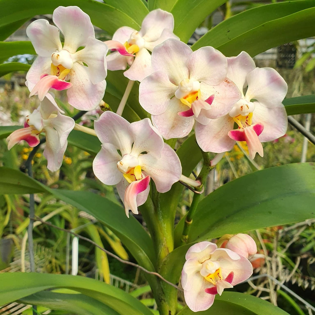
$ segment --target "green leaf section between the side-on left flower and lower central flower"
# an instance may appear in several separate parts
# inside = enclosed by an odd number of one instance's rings
[[[100,140],[97,137],[78,130],[72,130],[70,132],[68,143],[89,152],[92,155],[96,155],[100,151],[101,145]]]

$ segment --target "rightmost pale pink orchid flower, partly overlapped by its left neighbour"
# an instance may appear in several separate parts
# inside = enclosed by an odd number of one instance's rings
[[[205,152],[230,151],[235,141],[246,141],[249,156],[263,156],[261,142],[275,140],[287,130],[288,118],[282,104],[288,86],[272,68],[256,68],[246,52],[227,58],[227,77],[238,87],[241,99],[224,117],[207,125],[196,123],[198,145]],[[244,89],[246,89],[244,92]],[[238,129],[233,130],[234,123]],[[208,136],[208,138],[206,138]]]

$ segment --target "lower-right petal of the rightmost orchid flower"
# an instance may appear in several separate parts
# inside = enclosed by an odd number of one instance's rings
[[[282,137],[288,128],[288,116],[285,107],[281,104],[278,107],[266,108],[258,102],[254,102],[254,104],[253,124],[261,123],[264,126],[259,140],[267,142]]]

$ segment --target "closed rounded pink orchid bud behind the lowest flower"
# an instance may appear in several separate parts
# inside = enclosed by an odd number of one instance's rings
[[[225,248],[248,259],[257,253],[255,241],[248,234],[243,233],[233,235],[226,243]]]

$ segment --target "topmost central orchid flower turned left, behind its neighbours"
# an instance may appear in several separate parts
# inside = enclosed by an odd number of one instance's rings
[[[117,50],[106,57],[108,70],[125,70],[129,65],[124,76],[141,82],[152,73],[149,51],[168,38],[179,39],[173,30],[173,15],[161,9],[144,18],[140,31],[127,26],[119,28],[112,40],[105,42],[109,49]]]

